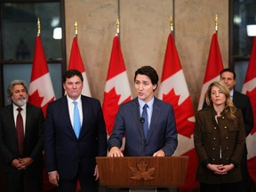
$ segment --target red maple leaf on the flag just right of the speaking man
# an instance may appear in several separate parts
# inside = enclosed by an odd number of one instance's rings
[[[179,106],[179,99],[180,96],[176,95],[173,89],[167,94],[163,95],[163,100],[171,103],[173,106],[177,131],[180,134],[190,138],[190,136],[194,133],[195,127],[195,122],[191,122],[188,120],[189,118],[194,116],[192,102],[190,97],[188,97]]]

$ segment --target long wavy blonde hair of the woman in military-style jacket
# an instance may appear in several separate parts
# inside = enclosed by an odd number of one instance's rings
[[[213,108],[213,103],[211,100],[212,86],[218,87],[226,95],[224,112],[227,114],[228,118],[235,121],[236,120],[236,115],[235,115],[236,107],[230,98],[230,92],[228,90],[228,87],[226,86],[226,84],[222,83],[221,81],[215,81],[209,85],[207,92],[206,92],[207,105],[211,106]]]

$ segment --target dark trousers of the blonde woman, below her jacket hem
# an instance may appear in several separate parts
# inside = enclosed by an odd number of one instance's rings
[[[206,184],[200,183],[200,192],[241,192],[240,182],[221,183],[221,184]]]

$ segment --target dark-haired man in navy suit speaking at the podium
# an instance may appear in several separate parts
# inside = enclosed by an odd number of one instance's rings
[[[139,68],[134,83],[137,98],[119,107],[108,139],[108,156],[172,156],[178,145],[175,117],[171,104],[154,97],[156,70],[149,66]],[[144,106],[148,116],[143,115]],[[124,135],[123,154],[120,148]]]

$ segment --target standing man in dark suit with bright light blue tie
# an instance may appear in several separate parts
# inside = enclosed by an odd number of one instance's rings
[[[95,157],[107,156],[107,132],[100,101],[81,95],[83,81],[79,71],[68,70],[62,80],[67,95],[50,103],[46,113],[45,166],[50,182],[59,186],[61,192],[75,192],[77,180],[82,192],[98,191]]]

